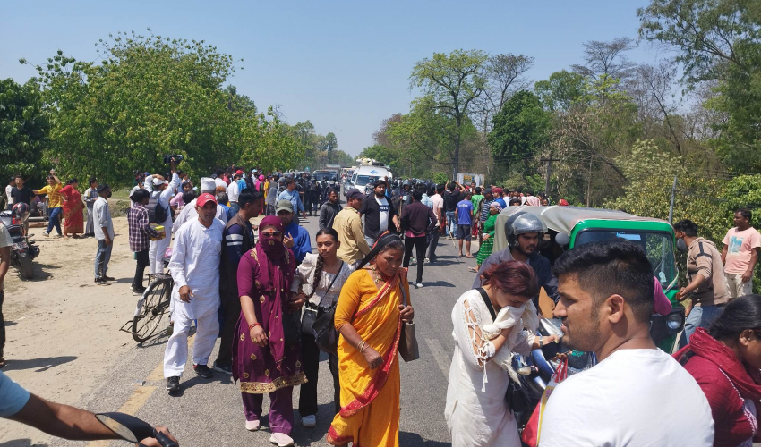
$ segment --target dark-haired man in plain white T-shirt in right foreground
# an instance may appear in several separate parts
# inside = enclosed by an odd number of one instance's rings
[[[650,338],[653,266],[628,240],[570,249],[554,266],[563,342],[598,364],[558,384],[540,447],[714,445],[711,407],[695,379]]]

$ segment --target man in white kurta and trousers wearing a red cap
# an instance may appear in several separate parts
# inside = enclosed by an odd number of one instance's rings
[[[219,261],[225,225],[214,217],[217,200],[211,194],[201,194],[197,208],[198,218],[184,223],[175,232],[175,249],[169,262],[169,273],[175,280],[172,291],[175,325],[164,352],[164,376],[169,392],[180,389],[193,320],[197,320],[193,370],[203,377],[213,375],[208,363],[219,333]]]

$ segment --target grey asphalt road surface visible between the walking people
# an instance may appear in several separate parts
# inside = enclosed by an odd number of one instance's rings
[[[314,234],[317,218],[307,218],[304,226]],[[425,287],[412,291],[415,307],[415,328],[421,358],[401,363],[401,431],[399,442],[406,447],[444,447],[449,445],[449,433],[443,417],[447,392],[449,361],[453,349],[450,312],[459,295],[469,289],[475,273],[467,266],[475,260],[457,258],[452,242],[440,240],[440,261],[426,266]],[[466,264],[467,262],[467,264]],[[415,266],[411,266],[415,268]],[[114,328],[116,330],[117,328]],[[133,343],[124,333],[124,342]],[[244,428],[244,412],[238,388],[229,375],[217,374],[203,379],[192,372],[188,359],[182,378],[183,393],[172,397],[164,390],[161,362],[166,338],[147,346],[135,346],[115,365],[112,374],[97,392],[88,399],[86,407],[93,411],[122,410],[150,421],[167,425],[181,444],[202,445],[269,445],[267,417],[262,418],[262,430],[249,433]],[[218,345],[211,358],[217,358]],[[73,378],[72,378],[73,379]],[[74,379],[73,379],[74,380]],[[320,365],[320,413],[315,428],[304,428],[298,412],[292,434],[296,445],[329,445],[325,441],[332,420],[332,384],[327,358]],[[268,399],[265,399],[267,414]],[[298,402],[298,388],[294,391]],[[92,445],[126,445],[125,443],[91,443]],[[52,445],[81,445],[57,441]]]

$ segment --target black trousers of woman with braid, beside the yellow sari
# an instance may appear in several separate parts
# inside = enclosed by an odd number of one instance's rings
[[[317,378],[320,375],[320,349],[312,335],[301,336],[301,361],[304,363],[306,384],[299,390],[299,414],[301,417],[317,414]],[[333,404],[336,414],[341,410],[341,385],[338,382],[338,356],[328,355],[330,374],[333,375]]]

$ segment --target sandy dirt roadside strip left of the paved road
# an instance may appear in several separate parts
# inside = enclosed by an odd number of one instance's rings
[[[30,392],[80,404],[108,374],[108,365],[134,348],[132,336],[118,330],[132,318],[138,299],[130,289],[135,261],[126,217],[115,217],[114,229],[108,275],[116,281],[110,285],[93,283],[98,245],[94,238],[48,239],[42,237],[42,228],[30,229],[40,247],[35,279],[21,281],[13,267],[6,275],[3,372]],[[0,419],[3,446],[45,445],[49,439]]]

